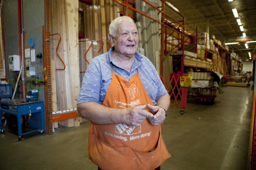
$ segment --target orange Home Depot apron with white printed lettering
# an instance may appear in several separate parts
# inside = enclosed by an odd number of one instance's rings
[[[154,105],[138,73],[126,81],[112,69],[112,80],[103,105],[122,109],[147,103]],[[150,112],[148,108],[146,110]],[[91,122],[88,152],[89,159],[104,170],[150,170],[171,157],[162,139],[161,126],[154,126],[147,119],[139,127]]]

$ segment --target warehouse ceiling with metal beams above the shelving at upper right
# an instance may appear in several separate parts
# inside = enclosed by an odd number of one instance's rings
[[[233,0],[231,2],[228,0],[167,0],[167,2],[185,15],[185,26],[188,29],[194,30],[198,26],[199,32],[207,32],[209,28],[210,37],[215,35],[222,45],[235,42],[236,37],[243,36],[242,33],[250,36],[251,41],[256,41],[255,0]],[[233,8],[237,9],[237,18],[234,17]],[[168,8],[165,12],[173,18],[180,17]],[[237,19],[241,20],[244,31],[240,30]],[[256,50],[254,51],[256,42],[247,43],[247,49],[245,43],[228,45],[229,51],[237,53],[242,60],[249,59],[248,52],[252,55],[256,54]]]

